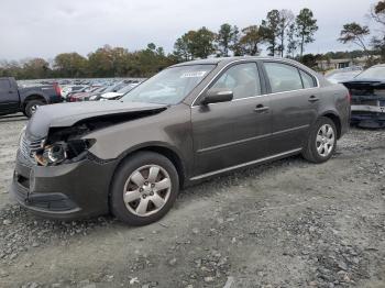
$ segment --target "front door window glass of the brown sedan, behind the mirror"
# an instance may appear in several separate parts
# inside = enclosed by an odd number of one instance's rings
[[[229,68],[211,86],[232,90],[234,99],[261,95],[261,81],[255,63],[238,64]]]

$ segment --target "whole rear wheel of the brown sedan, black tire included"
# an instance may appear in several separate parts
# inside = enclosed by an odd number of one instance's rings
[[[312,163],[323,163],[330,159],[336,147],[337,129],[334,122],[329,118],[321,117],[310,130],[309,139],[304,146],[302,156]]]

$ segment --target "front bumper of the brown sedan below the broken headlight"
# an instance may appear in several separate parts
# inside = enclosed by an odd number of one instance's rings
[[[114,160],[91,159],[53,167],[32,166],[18,153],[11,192],[34,213],[79,219],[109,212],[108,193]]]

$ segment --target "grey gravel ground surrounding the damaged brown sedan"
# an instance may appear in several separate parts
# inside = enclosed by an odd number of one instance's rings
[[[23,118],[0,120],[0,287],[385,287],[385,131],[184,190],[161,222],[55,222],[9,200]]]

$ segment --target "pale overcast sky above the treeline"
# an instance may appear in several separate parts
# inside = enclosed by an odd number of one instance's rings
[[[316,42],[308,53],[352,49],[337,42],[341,26],[370,24],[373,0],[2,0],[0,59],[52,58],[63,52],[87,55],[110,44],[130,51],[154,42],[172,52],[188,30],[217,31],[228,22],[244,27],[260,24],[272,9],[295,14],[310,8],[318,19]]]

